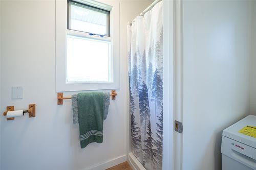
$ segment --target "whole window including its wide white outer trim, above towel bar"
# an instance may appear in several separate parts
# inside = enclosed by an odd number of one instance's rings
[[[56,91],[117,88],[118,3],[56,1]]]

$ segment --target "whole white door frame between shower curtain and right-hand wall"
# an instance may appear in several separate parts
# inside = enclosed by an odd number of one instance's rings
[[[163,0],[163,169],[182,169],[183,122],[182,0]]]

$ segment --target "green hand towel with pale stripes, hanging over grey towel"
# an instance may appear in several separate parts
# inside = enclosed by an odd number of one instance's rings
[[[104,93],[78,93],[78,122],[80,145],[103,141]]]

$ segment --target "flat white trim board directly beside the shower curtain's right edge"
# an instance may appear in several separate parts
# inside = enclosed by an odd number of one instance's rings
[[[174,1],[163,0],[163,169],[174,168]]]

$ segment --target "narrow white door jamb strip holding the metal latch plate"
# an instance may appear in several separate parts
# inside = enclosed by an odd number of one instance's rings
[[[183,27],[182,1],[174,1],[174,119],[183,122]],[[174,131],[174,166],[182,169],[183,133]]]

